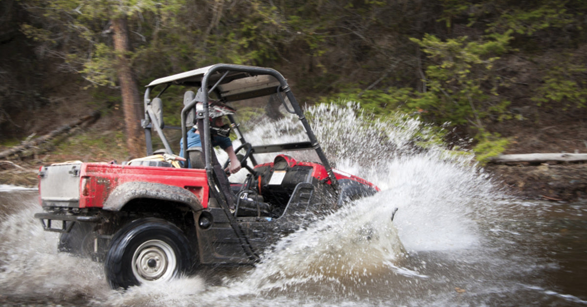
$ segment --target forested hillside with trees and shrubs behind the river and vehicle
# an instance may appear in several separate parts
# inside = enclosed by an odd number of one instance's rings
[[[142,154],[139,125],[131,124],[142,117],[141,87],[214,63],[275,68],[309,104],[353,100],[383,118],[417,114],[444,127],[448,143],[473,140],[481,162],[500,153],[587,152],[583,0],[0,6],[2,148],[102,115],[92,129],[51,143],[43,161]]]

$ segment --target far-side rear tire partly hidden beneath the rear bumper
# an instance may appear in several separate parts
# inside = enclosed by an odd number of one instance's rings
[[[94,225],[74,222],[69,232],[63,232],[59,236],[57,250],[69,252],[79,257],[90,257],[94,249],[94,238],[96,238],[96,233],[93,231]]]

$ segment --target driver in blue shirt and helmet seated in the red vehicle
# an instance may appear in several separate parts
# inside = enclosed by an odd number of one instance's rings
[[[223,116],[227,114],[234,114],[235,109],[227,106],[226,104],[210,100],[210,134],[212,146],[220,146],[227,154],[230,159],[230,165],[226,171],[230,174],[237,173],[241,169],[241,162],[238,160],[237,155],[234,153],[232,148],[232,141],[230,140],[230,126],[224,123]],[[192,127],[187,132],[187,148],[191,147],[202,147],[202,141],[200,139],[200,131],[198,131],[197,125]],[[183,137],[180,140],[180,156],[183,157]]]

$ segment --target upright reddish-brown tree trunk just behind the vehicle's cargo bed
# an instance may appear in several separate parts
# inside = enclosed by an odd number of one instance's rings
[[[131,158],[144,156],[144,134],[140,121],[143,117],[143,103],[139,86],[130,66],[129,28],[126,16],[113,19],[114,51],[117,56],[117,73],[122,93],[126,145]]]

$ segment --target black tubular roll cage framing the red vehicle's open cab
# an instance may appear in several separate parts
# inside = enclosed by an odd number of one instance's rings
[[[262,76],[271,76],[274,77],[275,80],[278,81],[278,84],[269,84],[269,83],[258,83],[254,84],[249,88],[247,86],[243,86],[239,91],[235,91],[235,93],[229,93],[229,95],[223,96],[223,93],[218,90],[219,85],[225,85],[230,83],[234,80],[243,79],[244,83],[248,82],[248,80],[257,80],[260,79]],[[247,79],[248,78],[248,79]],[[252,84],[252,82],[251,82]],[[322,165],[326,168],[330,181],[333,187],[338,187],[338,182],[336,180],[335,174],[330,167],[330,163],[326,158],[324,152],[322,151],[322,147],[318,143],[315,134],[310,127],[308,120],[306,119],[305,115],[301,107],[299,106],[297,100],[295,99],[294,94],[292,93],[288,82],[285,78],[281,75],[281,73],[277,72],[274,69],[270,68],[261,68],[255,66],[243,66],[243,65],[232,65],[232,64],[216,64],[212,66],[208,66],[205,68],[191,70],[189,72],[179,73],[177,75],[167,76],[160,79],[156,79],[151,82],[149,85],[146,86],[146,91],[144,94],[144,110],[145,110],[145,117],[141,120],[141,126],[145,130],[145,137],[147,143],[147,156],[151,156],[153,154],[153,142],[151,139],[152,129],[154,128],[157,131],[161,141],[163,142],[164,147],[168,151],[168,153],[173,153],[171,150],[171,146],[169,145],[167,138],[163,133],[163,128],[158,123],[155,110],[153,110],[153,100],[151,100],[151,92],[153,92],[154,88],[159,85],[164,85],[164,89],[161,92],[157,93],[153,99],[158,98],[165,92],[168,87],[171,85],[184,85],[184,86],[197,86],[200,87],[195,98],[190,102],[185,104],[183,109],[181,110],[181,136],[183,138],[183,143],[186,145],[183,148],[183,156],[188,157],[187,154],[187,115],[190,110],[195,108],[195,104],[198,102],[202,102],[203,109],[197,110],[196,119],[204,119],[202,122],[204,124],[204,157],[205,157],[205,170],[208,175],[208,180],[212,178],[212,146],[211,146],[211,135],[210,135],[210,121],[207,120],[210,118],[209,113],[209,105],[208,105],[208,97],[210,93],[215,92],[218,97],[221,97],[222,100],[226,102],[231,102],[235,100],[242,100],[248,99],[252,97],[259,97],[259,96],[266,96],[271,95],[274,93],[283,93],[289,100],[289,104],[291,104],[292,109],[290,109],[283,99],[282,95],[278,95],[279,99],[281,99],[282,104],[284,104],[285,109],[292,114],[296,114],[298,116],[298,120],[302,123],[303,129],[305,130],[306,134],[308,135],[308,139],[310,141],[299,142],[299,143],[284,143],[284,144],[270,144],[270,145],[263,145],[263,146],[254,146],[252,147],[252,154],[250,156],[251,161],[254,165],[256,165],[256,161],[254,158],[255,153],[272,153],[272,152],[280,152],[280,151],[287,151],[287,150],[315,150],[318,158],[320,159]],[[207,89],[207,90],[204,90]],[[241,141],[241,144],[247,143],[243,134],[238,128],[238,124],[235,122],[233,116],[228,116],[228,120],[230,120],[231,127],[237,134],[238,139]],[[184,167],[189,167],[189,163],[184,163]]]

